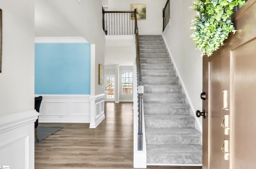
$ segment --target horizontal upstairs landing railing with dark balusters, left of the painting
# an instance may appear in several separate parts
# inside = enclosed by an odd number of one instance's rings
[[[134,35],[134,26],[134,11],[102,9],[102,28],[106,35]]]

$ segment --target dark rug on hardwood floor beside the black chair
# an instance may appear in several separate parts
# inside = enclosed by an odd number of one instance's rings
[[[63,127],[37,127],[37,136],[39,138],[39,141],[36,141],[35,138],[35,144],[58,132],[62,128]]]

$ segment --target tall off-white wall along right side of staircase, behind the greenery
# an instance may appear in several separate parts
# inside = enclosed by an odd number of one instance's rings
[[[195,113],[196,110],[202,110],[202,57],[190,37],[191,21],[196,16],[195,12],[189,10],[192,2],[193,0],[171,0],[170,28],[164,33],[164,39]],[[196,120],[200,121],[202,129],[202,118]]]

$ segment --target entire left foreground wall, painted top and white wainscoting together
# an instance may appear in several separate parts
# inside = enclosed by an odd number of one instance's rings
[[[1,1],[0,165],[34,169],[34,0]]]

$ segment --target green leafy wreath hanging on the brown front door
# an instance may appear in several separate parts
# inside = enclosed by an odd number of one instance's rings
[[[202,56],[212,55],[223,45],[230,32],[236,33],[231,16],[234,7],[243,5],[244,2],[244,0],[196,0],[190,6],[190,10],[197,12],[190,28],[194,31],[191,37],[196,41],[196,48],[202,51]]]

